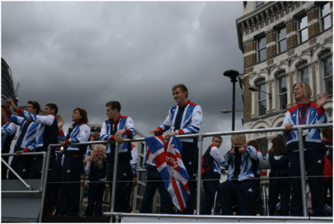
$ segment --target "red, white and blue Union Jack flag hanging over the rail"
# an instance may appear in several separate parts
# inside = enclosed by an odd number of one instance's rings
[[[156,168],[161,174],[168,195],[174,205],[183,211],[190,196],[189,174],[182,161],[182,142],[176,137],[167,141],[162,135],[145,138]]]

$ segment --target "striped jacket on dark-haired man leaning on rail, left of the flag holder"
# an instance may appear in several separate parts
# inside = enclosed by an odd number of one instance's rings
[[[117,123],[117,131],[122,129],[127,129],[129,135],[122,135],[122,138],[129,139],[137,134],[137,130],[134,128],[134,123],[131,117],[120,116],[119,122]],[[115,128],[113,122],[110,120],[105,120],[101,128],[100,140],[101,141],[110,141],[110,137],[113,135],[110,134],[111,128]],[[118,152],[127,152],[128,142],[120,144]],[[107,145],[105,153],[110,153],[110,144]]]

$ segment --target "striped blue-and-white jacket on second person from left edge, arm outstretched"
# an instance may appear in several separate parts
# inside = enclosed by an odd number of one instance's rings
[[[7,113],[7,118],[8,118],[9,121],[12,121],[13,123],[16,123],[16,124],[20,125],[20,128],[18,130],[18,138],[20,138],[22,129],[28,121],[25,120],[25,118],[13,115],[13,113],[11,113],[11,114]],[[30,122],[30,124],[28,125],[28,130],[25,133],[25,136],[23,137],[22,144],[17,145],[17,146],[21,147],[23,149],[25,147],[28,147],[28,149],[30,151],[35,150],[35,148],[37,147],[37,139],[36,138],[37,138],[37,131],[38,131],[39,126],[40,126],[40,124],[38,124],[38,123]]]

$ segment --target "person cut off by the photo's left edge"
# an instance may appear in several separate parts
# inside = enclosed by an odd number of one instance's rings
[[[9,153],[11,150],[11,141],[15,136],[18,127],[8,120],[6,115],[6,106],[1,105],[1,154]],[[7,163],[9,157],[2,157]],[[8,168],[1,162],[1,179],[6,179]]]

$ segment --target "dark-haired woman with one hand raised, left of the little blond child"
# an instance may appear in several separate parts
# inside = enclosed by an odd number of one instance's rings
[[[81,171],[84,169],[83,157],[87,151],[87,145],[72,145],[69,143],[88,142],[91,128],[88,126],[87,112],[83,108],[75,108],[72,113],[73,125],[64,135],[62,126],[64,120],[58,119],[58,135],[64,147],[64,163],[62,167],[62,182],[60,198],[57,206],[57,215],[77,216],[80,204]]]

